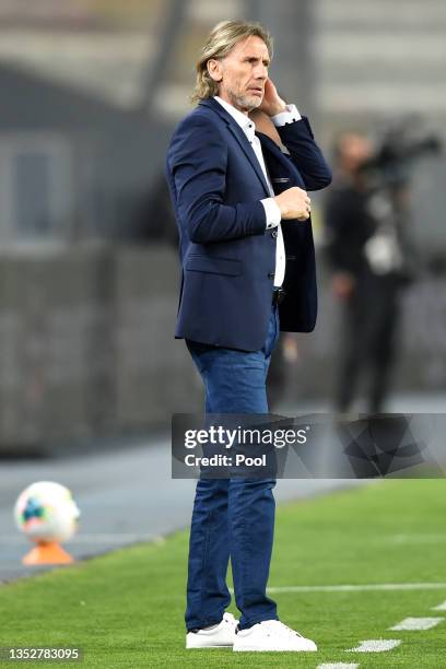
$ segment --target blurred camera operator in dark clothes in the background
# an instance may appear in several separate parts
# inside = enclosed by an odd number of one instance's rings
[[[375,156],[366,136],[342,133],[325,203],[331,290],[343,319],[334,391],[340,413],[351,408],[363,373],[368,377],[366,410],[383,410],[397,352],[401,289],[413,275],[406,232],[408,181],[377,181]]]

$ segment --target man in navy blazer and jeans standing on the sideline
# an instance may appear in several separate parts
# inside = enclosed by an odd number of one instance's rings
[[[199,104],[176,128],[167,179],[180,234],[175,336],[203,379],[207,413],[268,413],[279,327],[310,331],[317,310],[310,200],[330,171],[309,122],[268,78],[271,38],[257,23],[214,27],[197,63]],[[259,108],[289,155],[256,133]],[[280,304],[280,309],[279,309]],[[279,324],[280,312],[280,324]],[[186,646],[316,650],[267,597],[273,479],[200,479],[189,544]],[[239,624],[225,613],[231,558]]]

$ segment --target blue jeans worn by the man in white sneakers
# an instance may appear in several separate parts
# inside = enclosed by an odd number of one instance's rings
[[[272,307],[260,351],[221,349],[188,341],[203,379],[207,413],[268,413],[266,379],[279,337]],[[240,627],[278,619],[266,595],[274,530],[274,479],[200,479],[189,541],[187,630],[220,623],[231,602],[227,565],[234,580]]]

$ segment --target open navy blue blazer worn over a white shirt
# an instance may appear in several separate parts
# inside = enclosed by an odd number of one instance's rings
[[[275,195],[318,190],[331,173],[308,120],[278,128],[283,153],[257,133]],[[244,351],[263,345],[271,313],[277,231],[266,231],[261,199],[270,197],[246,134],[213,98],[177,126],[166,176],[179,227],[181,286],[176,338]],[[308,332],[317,313],[310,221],[282,221],[286,272],[281,330]]]

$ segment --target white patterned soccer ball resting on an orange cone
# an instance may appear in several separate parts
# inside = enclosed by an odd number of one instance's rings
[[[71,491],[51,481],[26,488],[14,507],[17,528],[37,543],[67,541],[78,529],[80,515]]]

